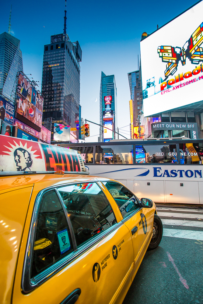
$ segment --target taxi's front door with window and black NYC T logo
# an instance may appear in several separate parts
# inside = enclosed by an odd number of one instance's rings
[[[134,278],[142,258],[147,250],[149,238],[152,233],[153,215],[148,208],[140,208],[138,199],[126,187],[115,181],[104,181],[103,184],[109,190],[116,201],[121,214],[122,222],[128,227],[134,251]]]

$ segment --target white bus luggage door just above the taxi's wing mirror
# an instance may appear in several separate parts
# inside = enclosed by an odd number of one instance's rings
[[[164,182],[152,180],[134,180],[134,193],[140,199],[145,197],[152,199],[154,202],[164,202]]]

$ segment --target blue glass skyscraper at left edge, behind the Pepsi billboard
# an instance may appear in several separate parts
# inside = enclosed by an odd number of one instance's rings
[[[23,71],[20,40],[4,32],[0,35],[0,93],[9,99],[19,71]]]

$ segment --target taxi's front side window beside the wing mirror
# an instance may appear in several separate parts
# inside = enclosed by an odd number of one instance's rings
[[[103,184],[115,199],[123,218],[139,209],[138,198],[123,185],[115,181],[104,181]]]

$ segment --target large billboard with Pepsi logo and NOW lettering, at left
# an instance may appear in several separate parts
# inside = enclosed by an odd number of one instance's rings
[[[41,127],[43,103],[44,99],[40,93],[19,73],[16,112]]]

